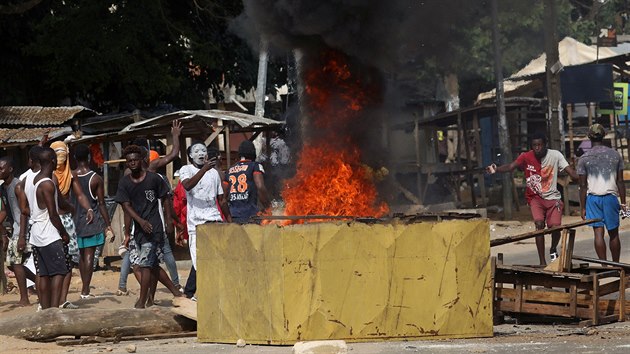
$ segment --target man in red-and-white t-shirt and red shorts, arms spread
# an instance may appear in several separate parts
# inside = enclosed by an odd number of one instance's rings
[[[547,137],[542,134],[535,134],[531,140],[532,149],[522,153],[513,162],[501,166],[492,164],[486,168],[490,174],[496,172],[511,172],[519,168],[525,173],[527,188],[525,199],[532,212],[536,230],[546,227],[554,227],[562,224],[562,211],[564,204],[561,200],[560,192],[557,188],[558,172],[566,171],[573,180],[578,176],[575,170],[558,150],[547,148]],[[551,248],[549,256],[551,260],[558,258],[556,247],[560,241],[560,233],[551,234]],[[541,265],[546,265],[545,260],[545,237],[536,237],[536,248],[538,249],[538,259]]]

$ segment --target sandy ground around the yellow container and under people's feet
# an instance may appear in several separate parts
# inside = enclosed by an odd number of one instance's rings
[[[523,210],[525,209],[525,210]],[[571,223],[580,220],[579,217],[565,217],[563,223]],[[526,208],[521,208],[512,221],[494,220],[490,215],[490,237],[492,239],[509,235],[522,234],[533,231],[534,225]],[[623,220],[621,225],[622,237],[622,261],[630,263],[630,219]],[[592,240],[592,229],[589,227],[577,228],[576,242],[589,245]],[[549,241],[547,241],[548,243]],[[525,240],[509,245],[495,247],[492,255],[503,253],[505,263],[513,263],[510,260],[531,260],[535,264],[537,260],[534,240]],[[178,254],[185,254],[182,250]],[[591,247],[586,247],[582,252],[584,256],[595,257]],[[114,262],[116,266],[118,263]],[[520,263],[523,264],[523,263]],[[189,261],[178,261],[180,280],[186,281]],[[113,270],[101,270],[94,274],[92,281],[92,294],[95,298],[82,300],[79,297],[81,281],[78,272],[70,288],[69,300],[81,308],[132,308],[139,291],[139,285],[130,275],[128,281],[129,296],[116,296],[119,273]],[[9,279],[14,281],[13,279]],[[0,295],[0,320],[15,319],[19,325],[22,315],[36,311],[36,305],[17,307],[19,299],[17,290]],[[156,294],[158,306],[170,306],[171,295],[160,288]],[[31,296],[31,301],[36,298]],[[459,353],[483,353],[506,351],[538,352],[541,350],[555,350],[558,352],[608,352],[624,353],[630,350],[630,324],[616,323],[596,328],[578,328],[571,325],[516,325],[504,324],[495,326],[495,336],[485,339],[467,340],[441,340],[441,341],[401,341],[380,343],[356,343],[349,344],[349,349],[355,353],[402,353],[402,352],[459,352]],[[229,344],[199,343],[195,337],[176,339],[157,339],[144,341],[122,341],[113,344],[111,342],[99,344],[84,344],[74,346],[59,346],[55,342],[38,343],[19,340],[0,335],[0,352],[3,353],[127,353],[127,346],[134,345],[136,352],[164,352],[164,353],[291,353],[291,347],[251,346],[237,348]],[[569,349],[571,348],[571,349]]]

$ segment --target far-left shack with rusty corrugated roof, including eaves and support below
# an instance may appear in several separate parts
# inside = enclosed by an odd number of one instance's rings
[[[83,107],[0,107],[0,147],[15,161],[16,171],[26,169],[28,148],[37,144],[44,134],[49,139],[65,138],[79,131],[83,120],[98,115]]]

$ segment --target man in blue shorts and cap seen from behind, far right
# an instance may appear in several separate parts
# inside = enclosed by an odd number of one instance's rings
[[[591,224],[595,234],[595,252],[606,260],[604,226],[610,237],[612,260],[619,262],[619,210],[626,209],[626,186],[623,182],[623,158],[602,141],[606,131],[601,124],[593,124],[588,130],[592,148],[586,152],[577,166],[580,181],[580,205],[582,219],[602,219]],[[621,204],[619,204],[621,199]]]

